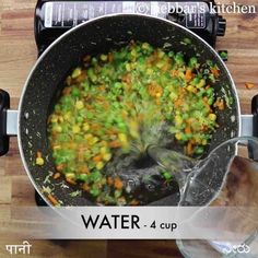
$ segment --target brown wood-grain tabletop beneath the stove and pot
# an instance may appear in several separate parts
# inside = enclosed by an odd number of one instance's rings
[[[37,57],[33,32],[35,3],[36,0],[0,2],[0,87],[10,93],[12,108],[17,107],[25,79]],[[256,0],[242,3],[255,4]],[[258,16],[224,16],[227,32],[219,38],[218,49],[228,50],[227,66],[237,85],[242,112],[248,114],[250,99],[258,93]],[[255,83],[255,87],[246,90],[246,82]],[[11,140],[9,154],[0,159],[0,221],[10,220],[4,210],[13,206],[35,206],[34,188],[21,163],[16,139]],[[0,257],[9,257],[5,244],[13,243],[15,239],[0,241]],[[32,257],[181,257],[172,241],[34,241],[32,244]]]

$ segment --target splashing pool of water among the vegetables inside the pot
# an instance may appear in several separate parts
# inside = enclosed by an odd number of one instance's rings
[[[141,124],[128,122],[131,124],[130,134],[133,136],[133,140],[130,141],[130,151],[114,156],[113,161],[106,165],[106,173],[112,177],[119,177],[127,195],[139,200],[141,204],[174,196],[171,202],[176,206],[179,201],[176,178],[148,151],[150,146],[157,144],[166,150],[173,145],[173,136],[166,122],[159,124],[156,117],[150,114],[145,114],[144,118],[144,122]]]

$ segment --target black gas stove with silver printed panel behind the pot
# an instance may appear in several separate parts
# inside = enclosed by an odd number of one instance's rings
[[[35,10],[35,40],[38,56],[70,28],[106,14],[140,13],[176,22],[198,34],[212,47],[224,36],[226,21],[213,10],[213,0],[189,1],[56,1],[38,0]],[[225,52],[225,50],[223,50]],[[36,203],[46,206],[35,194]]]

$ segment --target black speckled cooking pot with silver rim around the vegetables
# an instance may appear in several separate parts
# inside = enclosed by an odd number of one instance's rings
[[[190,39],[191,44],[185,44],[185,38]],[[82,57],[120,48],[132,39],[148,42],[167,51],[183,51],[187,58],[197,56],[200,62],[213,60],[221,71],[220,81],[214,86],[215,95],[224,98],[226,94],[227,98],[233,99],[233,104],[224,110],[218,110],[220,127],[212,137],[207,154],[223,141],[241,134],[241,112],[235,84],[222,59],[204,40],[176,23],[148,15],[115,14],[91,20],[58,38],[37,60],[24,86],[19,112],[9,110],[10,99],[5,92],[1,91],[0,95],[1,154],[8,152],[9,136],[16,133],[27,175],[48,204],[51,203],[43,194],[46,188],[50,188],[63,206],[92,204],[84,196],[71,197],[69,194],[74,188],[62,179],[48,176],[49,172],[50,175],[55,172],[55,165],[47,138],[47,118],[57,93]],[[253,116],[244,117],[244,134],[251,133],[251,118]],[[46,157],[42,167],[35,166],[37,151]],[[178,198],[171,200],[173,201],[167,202],[166,199],[165,203],[177,204]],[[164,201],[160,202],[162,203]]]

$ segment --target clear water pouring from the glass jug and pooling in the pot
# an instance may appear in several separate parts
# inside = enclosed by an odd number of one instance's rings
[[[228,140],[206,159],[191,159],[176,145],[169,126],[149,113],[142,122],[128,121],[133,136],[130,151],[116,155],[106,165],[107,174],[121,178],[127,195],[141,204],[161,204],[159,200],[165,199],[163,204],[208,206],[225,183],[237,142],[248,139]]]

